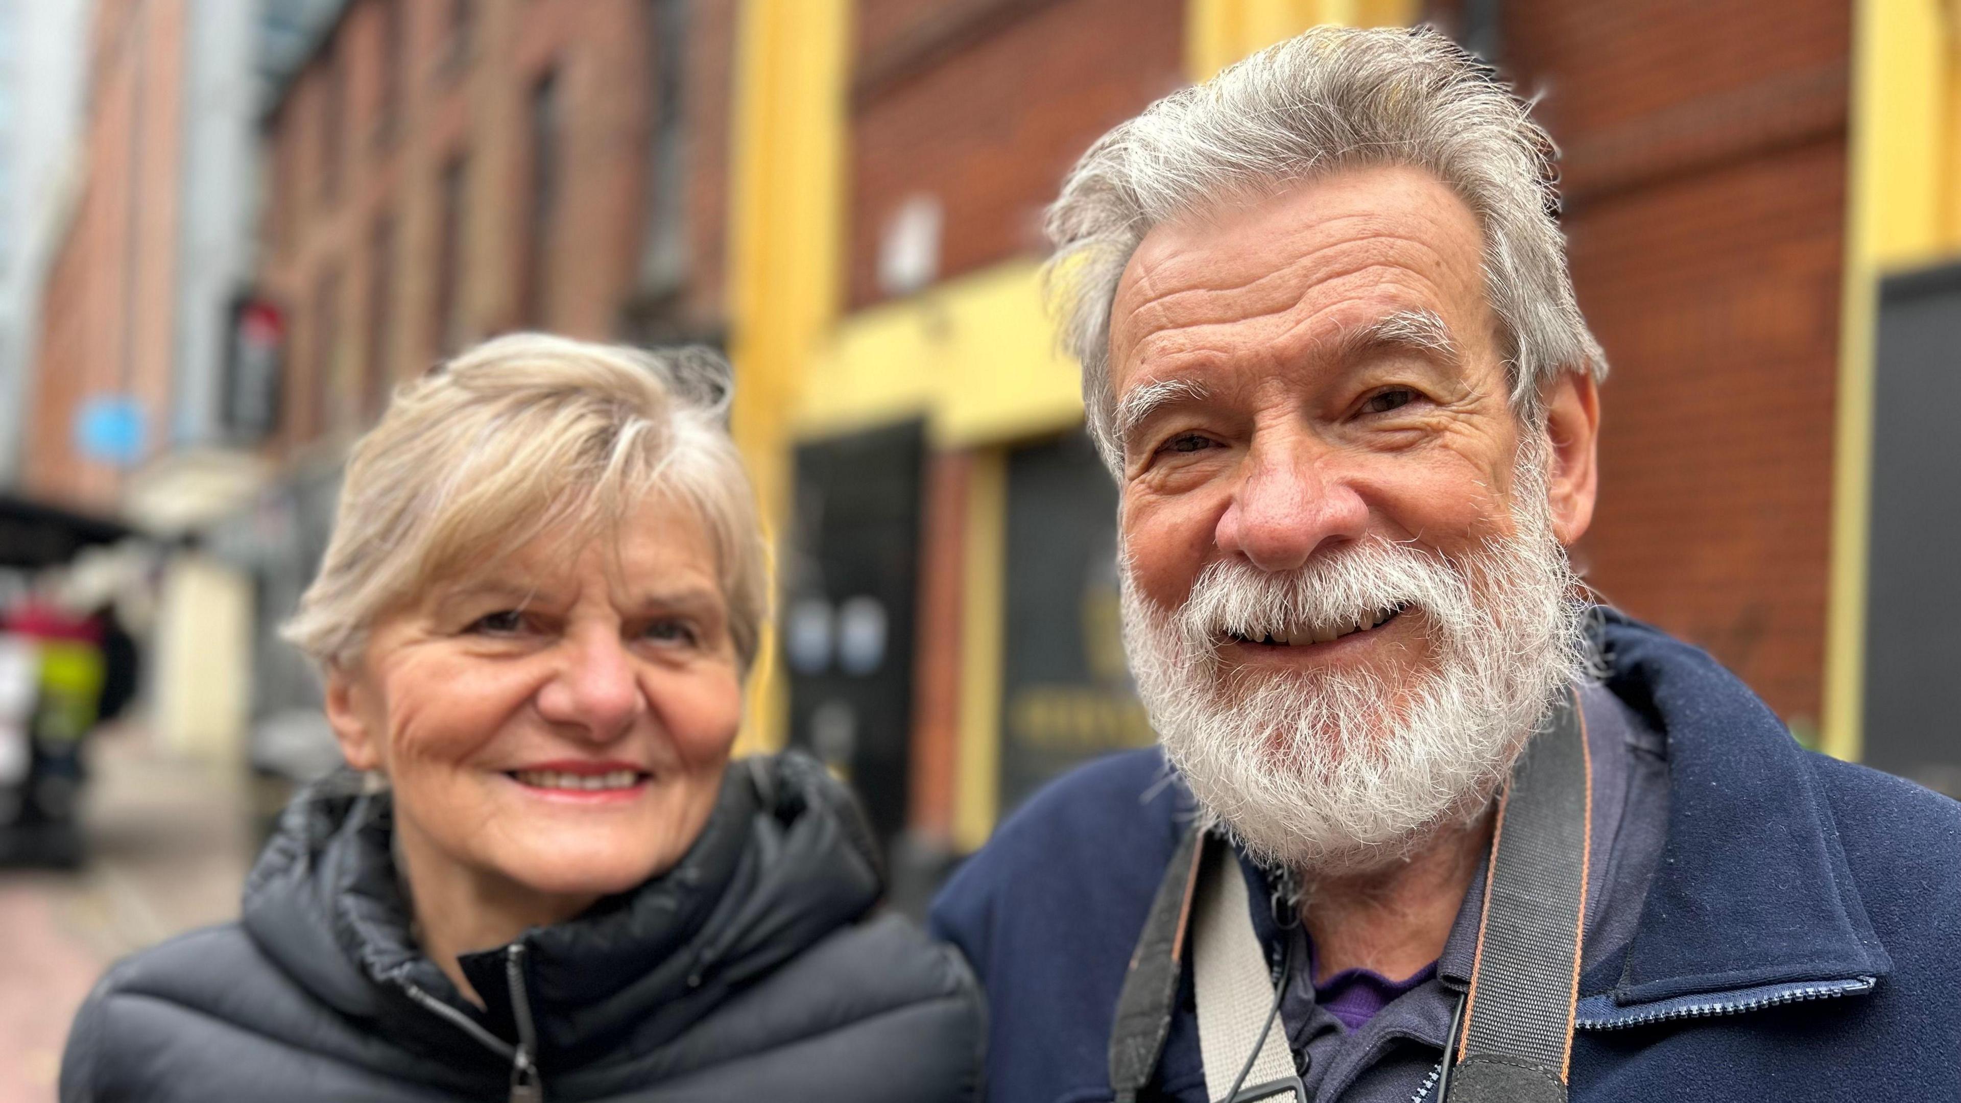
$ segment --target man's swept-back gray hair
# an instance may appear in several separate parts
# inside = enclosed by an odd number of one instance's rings
[[[1512,408],[1528,422],[1541,416],[1539,387],[1555,373],[1604,379],[1567,273],[1553,153],[1530,104],[1430,27],[1314,27],[1102,135],[1049,206],[1045,283],[1063,345],[1082,363],[1104,463],[1122,473],[1110,308],[1137,243],[1179,216],[1337,169],[1416,165],[1479,216]]]

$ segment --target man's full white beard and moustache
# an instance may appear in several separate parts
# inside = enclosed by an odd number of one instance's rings
[[[1145,599],[1126,563],[1124,644],[1171,763],[1257,860],[1310,875],[1408,856],[1475,818],[1553,693],[1586,669],[1584,604],[1551,532],[1541,447],[1522,449],[1510,540],[1445,561],[1383,538],[1267,573],[1198,577],[1184,606]],[[1226,671],[1228,636],[1353,626],[1402,606],[1428,642],[1388,685],[1369,671]],[[1394,677],[1394,675],[1392,675]]]

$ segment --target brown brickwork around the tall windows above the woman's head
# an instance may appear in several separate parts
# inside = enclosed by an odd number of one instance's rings
[[[373,414],[375,379],[398,381],[451,345],[520,326],[578,338],[635,336],[653,118],[645,0],[478,0],[459,51],[449,4],[357,0],[292,80],[267,130],[273,169],[263,287],[288,310],[284,430],[278,444],[345,440]],[[661,336],[722,326],[724,181],[735,0],[692,0],[684,59],[688,279],[661,302]],[[382,90],[398,29],[400,102]],[[335,65],[345,104],[335,112]],[[533,90],[557,90],[557,202],[531,241]],[[322,128],[339,118],[339,143]],[[341,183],[320,186],[343,151]],[[443,177],[465,165],[459,216]],[[445,320],[443,234],[459,228],[455,334]],[[390,228],[386,275],[377,228]],[[375,281],[384,279],[384,294]],[[535,281],[535,283],[529,283]],[[331,296],[331,308],[327,298]],[[386,340],[375,340],[388,310]],[[331,330],[331,332],[329,332]],[[453,340],[451,340],[453,338]],[[375,349],[380,349],[378,363]]]

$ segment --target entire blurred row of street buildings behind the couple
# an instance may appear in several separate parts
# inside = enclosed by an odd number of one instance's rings
[[[0,571],[29,510],[139,532],[135,726],[263,813],[335,762],[273,632],[390,389],[520,328],[722,345],[780,567],[745,746],[857,781],[916,897],[1151,738],[1041,206],[1318,22],[1441,26],[1561,145],[1588,581],[1961,793],[1953,0],[0,0]]]

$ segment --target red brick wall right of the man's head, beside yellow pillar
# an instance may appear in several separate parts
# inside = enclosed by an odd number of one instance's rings
[[[1581,548],[1616,604],[1818,716],[1849,6],[1514,0],[1614,375]]]

